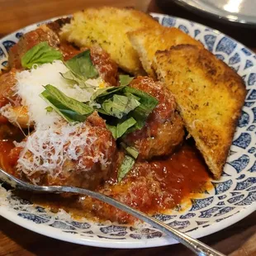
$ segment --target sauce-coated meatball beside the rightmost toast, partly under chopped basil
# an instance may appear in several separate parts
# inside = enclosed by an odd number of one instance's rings
[[[158,99],[159,104],[149,115],[145,126],[126,135],[124,142],[139,151],[140,159],[173,153],[184,136],[183,121],[175,111],[173,94],[163,83],[148,77],[135,78],[130,87],[149,93]]]

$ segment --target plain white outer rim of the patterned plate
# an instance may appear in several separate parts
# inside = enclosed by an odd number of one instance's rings
[[[256,56],[256,54],[252,51],[249,50],[245,45],[239,43],[239,41],[233,39],[230,36],[226,36],[224,33],[217,31],[216,29],[213,29],[209,26],[205,26],[201,23],[197,23],[194,21],[190,21],[184,18],[180,17],[174,17],[174,16],[169,16],[166,14],[161,14],[157,12],[150,12],[150,15],[156,16],[156,17],[170,17],[174,18],[176,20],[180,21],[189,21],[192,22],[196,26],[201,26],[201,28],[204,29],[211,29],[212,32],[218,34],[218,35],[223,35],[230,40],[235,41],[239,46],[244,47],[244,49],[248,50],[249,53],[252,56]],[[59,17],[53,17],[50,19],[46,19],[44,21],[38,21],[35,22],[31,25],[22,27],[21,29],[18,29],[17,31],[13,31],[12,33],[8,34],[7,36],[4,36],[0,38],[0,42],[4,40],[8,40],[11,36],[15,36],[18,32],[21,31],[30,31],[33,29],[35,26],[47,23],[49,21],[55,21],[59,18],[63,17],[72,17],[71,15],[64,15],[64,16],[59,16]],[[254,59],[254,58],[252,58]],[[256,59],[254,59],[254,66],[256,67]],[[191,232],[188,232],[188,235],[191,235],[193,238],[201,238],[206,235],[211,235],[213,233],[216,233],[217,231],[223,230],[226,227],[235,224],[239,220],[244,219],[246,216],[249,216],[251,213],[256,211],[256,201],[254,201],[251,205],[249,206],[240,206],[239,210],[232,216],[226,218],[225,220],[221,220],[220,222],[214,222],[211,223],[209,227],[206,228],[198,228],[197,230],[192,230]],[[83,245],[91,245],[95,247],[102,247],[102,248],[112,248],[112,249],[138,249],[138,248],[150,248],[150,247],[157,247],[157,246],[164,246],[164,245],[169,245],[169,244],[177,244],[178,242],[174,239],[168,238],[167,236],[162,236],[160,238],[154,238],[154,239],[125,239],[125,240],[115,240],[115,239],[95,239],[95,238],[82,238],[81,236],[77,237],[76,235],[70,235],[68,233],[62,232],[60,229],[56,229],[53,227],[50,227],[49,225],[38,225],[34,222],[31,222],[31,220],[26,220],[23,219],[19,216],[17,216],[17,213],[15,211],[11,211],[11,209],[8,209],[6,206],[1,206],[0,204],[0,215],[4,217],[7,220],[12,221],[13,223],[17,225],[21,225],[22,227],[26,228],[27,230],[34,231],[40,235],[45,235],[51,238],[59,239],[59,240],[64,240],[67,242],[71,242],[74,244],[83,244]]]

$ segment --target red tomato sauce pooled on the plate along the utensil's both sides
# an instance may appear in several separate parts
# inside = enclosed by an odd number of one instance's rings
[[[6,156],[12,149],[12,142],[0,142],[2,168],[12,173]],[[10,159],[8,160],[10,161]],[[171,157],[136,163],[121,183],[110,181],[102,184],[97,191],[114,197],[118,201],[135,207],[148,214],[168,211],[211,185],[206,164],[194,145],[183,145]],[[135,218],[123,211],[91,197],[73,195],[32,195],[29,197],[38,205],[48,206],[52,211],[60,208],[73,217],[88,217],[93,220],[111,220],[132,224]]]

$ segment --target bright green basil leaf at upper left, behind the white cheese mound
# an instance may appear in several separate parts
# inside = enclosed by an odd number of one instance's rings
[[[55,59],[63,59],[62,53],[50,47],[47,42],[41,42],[21,57],[21,65],[23,68],[31,69],[34,64],[51,63]]]

